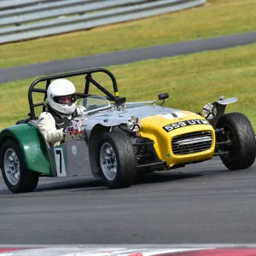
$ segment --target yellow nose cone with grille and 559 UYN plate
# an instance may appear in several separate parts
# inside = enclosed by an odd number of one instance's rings
[[[160,160],[166,161],[167,166],[212,158],[215,132],[212,125],[200,115],[179,111],[156,114],[140,122],[141,137],[154,141],[156,154]]]

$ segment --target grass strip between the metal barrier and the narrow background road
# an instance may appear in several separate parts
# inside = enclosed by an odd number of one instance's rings
[[[72,32],[49,38],[0,45],[0,67],[55,61],[230,33],[252,32],[255,0],[210,0],[177,13]]]

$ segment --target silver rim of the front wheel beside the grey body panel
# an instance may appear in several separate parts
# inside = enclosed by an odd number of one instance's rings
[[[117,174],[117,160],[113,147],[109,143],[103,143],[100,151],[102,172],[108,180],[113,180]]]

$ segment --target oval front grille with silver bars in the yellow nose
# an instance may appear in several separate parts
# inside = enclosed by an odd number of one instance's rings
[[[173,154],[193,154],[212,147],[211,131],[196,131],[172,139]]]

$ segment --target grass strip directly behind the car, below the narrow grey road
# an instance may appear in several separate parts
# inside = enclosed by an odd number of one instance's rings
[[[204,104],[236,96],[238,102],[226,109],[245,113],[256,131],[256,44],[206,51],[160,60],[139,61],[108,67],[116,76],[120,96],[128,101],[157,99],[168,92],[167,107],[201,111]],[[94,76],[111,90],[106,75]],[[33,79],[1,85],[1,125],[15,124],[28,113],[27,90]],[[84,77],[71,79],[79,91],[84,89]],[[113,91],[113,90],[111,90]],[[92,90],[96,93],[96,90]],[[35,97],[38,102],[38,96]]]

